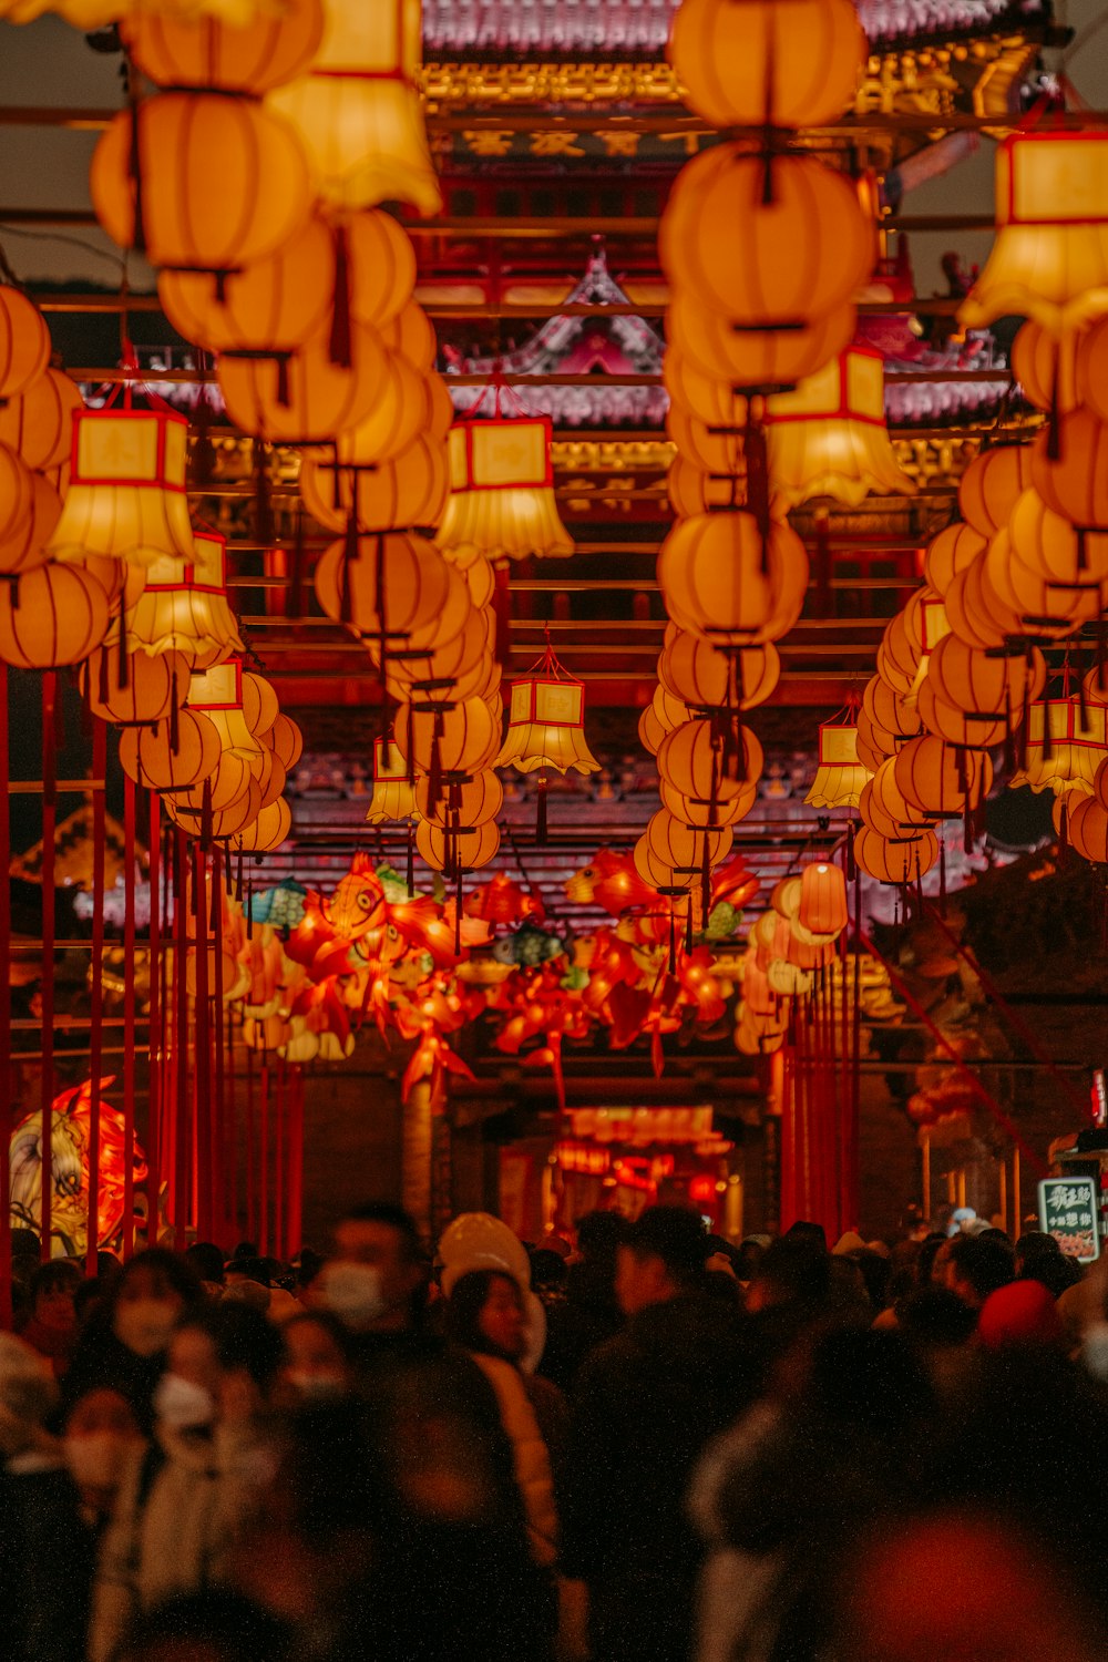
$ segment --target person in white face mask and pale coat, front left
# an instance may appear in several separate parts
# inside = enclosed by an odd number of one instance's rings
[[[100,1554],[91,1662],[115,1655],[140,1610],[224,1577],[272,1479],[267,1414],[281,1361],[281,1335],[248,1305],[204,1306],[173,1333],[154,1441],[125,1473]]]

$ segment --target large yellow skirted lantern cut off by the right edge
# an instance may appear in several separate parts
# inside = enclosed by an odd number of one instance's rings
[[[997,239],[967,329],[1030,317],[1063,334],[1108,312],[1108,133],[1012,133],[997,148]]]

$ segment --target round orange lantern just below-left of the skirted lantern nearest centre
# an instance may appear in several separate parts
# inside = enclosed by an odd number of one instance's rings
[[[434,650],[444,645],[444,635],[460,635],[470,612],[465,590],[447,603],[450,575],[434,542],[409,532],[379,532],[324,550],[316,597],[336,623],[384,642],[387,652]]]

